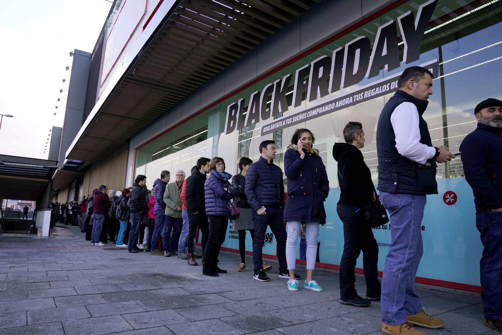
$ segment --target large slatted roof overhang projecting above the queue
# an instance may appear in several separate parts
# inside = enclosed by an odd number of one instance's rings
[[[65,157],[106,159],[190,92],[320,1],[162,2]],[[102,134],[110,126],[117,131],[113,141],[106,141]]]

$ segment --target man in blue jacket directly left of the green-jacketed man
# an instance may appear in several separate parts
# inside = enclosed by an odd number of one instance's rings
[[[164,192],[166,191],[166,186],[170,178],[171,178],[171,173],[167,170],[164,170],[160,173],[160,179],[157,178],[154,181],[153,193],[155,199],[155,206],[154,206],[155,226],[154,226],[154,232],[151,236],[152,240],[150,240],[150,245],[152,246],[152,248],[157,246],[157,239],[159,238],[159,234],[162,231],[162,228],[164,228],[166,222],[166,214],[165,214],[166,203],[164,202]],[[159,256],[164,255],[166,257],[169,257],[167,249],[166,252],[163,252],[158,248],[152,249],[152,251],[150,251],[150,255],[159,255]]]

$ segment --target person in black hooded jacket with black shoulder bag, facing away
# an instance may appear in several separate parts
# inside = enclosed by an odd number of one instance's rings
[[[364,131],[359,122],[349,122],[343,129],[346,143],[335,143],[333,158],[338,162],[340,200],[336,211],[343,222],[343,254],[340,260],[340,303],[357,307],[380,300],[378,281],[378,245],[362,208],[373,201],[373,181],[360,149],[364,148]],[[362,208],[361,208],[362,207]],[[354,269],[362,250],[366,280],[366,299],[355,290]]]

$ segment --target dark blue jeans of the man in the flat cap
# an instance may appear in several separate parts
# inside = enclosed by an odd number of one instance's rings
[[[476,228],[484,247],[479,261],[484,318],[497,320],[502,318],[502,212],[476,214]]]

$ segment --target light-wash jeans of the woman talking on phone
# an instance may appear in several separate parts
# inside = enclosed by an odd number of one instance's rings
[[[288,221],[288,239],[286,240],[286,262],[288,270],[295,269],[296,245],[300,236],[300,221]],[[307,222],[305,240],[307,241],[307,270],[314,270],[317,256],[317,237],[319,236],[319,222]]]

